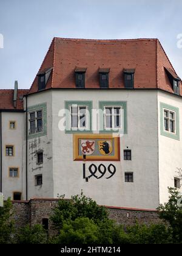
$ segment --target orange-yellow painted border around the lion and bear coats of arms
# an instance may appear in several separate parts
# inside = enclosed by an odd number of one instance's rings
[[[86,159],[79,155],[79,139],[113,139],[115,155],[87,155]],[[113,137],[111,134],[74,134],[73,135],[73,160],[74,161],[120,161],[120,137]]]

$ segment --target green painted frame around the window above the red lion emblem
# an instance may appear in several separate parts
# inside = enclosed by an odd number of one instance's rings
[[[65,132],[66,133],[92,133],[92,101],[65,101],[65,110],[66,110],[66,127]],[[89,116],[86,116],[87,119],[87,127],[78,127],[78,128],[72,128],[71,127],[71,112],[70,108],[72,106],[80,106],[80,107],[87,107],[87,113],[89,113]]]

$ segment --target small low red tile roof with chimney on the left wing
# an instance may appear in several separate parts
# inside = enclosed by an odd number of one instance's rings
[[[13,105],[14,90],[0,90],[0,110],[23,110],[23,101],[20,96],[29,93],[29,90],[18,90],[16,108]]]

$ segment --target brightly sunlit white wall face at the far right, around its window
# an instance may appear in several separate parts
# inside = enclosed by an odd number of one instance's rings
[[[180,140],[161,135],[160,131],[160,102],[179,108],[180,112]],[[182,100],[180,97],[158,91],[158,137],[159,137],[159,179],[160,203],[169,199],[167,187],[174,187],[174,177],[177,168],[182,168]]]

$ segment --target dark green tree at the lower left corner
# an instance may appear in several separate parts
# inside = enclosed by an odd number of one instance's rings
[[[12,202],[7,199],[4,207],[0,207],[0,244],[13,242],[14,222],[10,219],[12,216]]]

